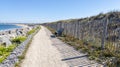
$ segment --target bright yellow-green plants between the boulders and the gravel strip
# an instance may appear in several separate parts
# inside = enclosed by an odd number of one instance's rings
[[[23,41],[25,41],[27,37],[25,36],[18,36],[12,39],[12,44],[10,46],[0,46],[0,63],[5,60],[10,53]]]

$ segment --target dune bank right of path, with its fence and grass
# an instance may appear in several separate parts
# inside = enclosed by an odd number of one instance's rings
[[[45,23],[51,31],[64,28],[66,36],[59,37],[90,60],[109,67],[120,65],[120,11],[100,13],[96,16]],[[118,66],[120,67],[120,66]]]

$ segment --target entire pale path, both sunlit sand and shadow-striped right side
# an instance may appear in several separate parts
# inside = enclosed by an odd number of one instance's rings
[[[102,67],[50,35],[48,29],[41,28],[33,38],[21,67]]]

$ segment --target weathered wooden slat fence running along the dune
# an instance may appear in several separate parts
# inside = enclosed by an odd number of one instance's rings
[[[44,26],[55,30],[64,29],[65,35],[70,35],[80,40],[86,40],[101,48],[109,48],[111,51],[120,52],[120,20],[108,19],[92,21],[58,21],[45,23]]]

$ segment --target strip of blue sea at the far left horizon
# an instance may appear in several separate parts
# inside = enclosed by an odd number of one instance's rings
[[[21,26],[17,26],[15,24],[2,24],[2,23],[0,23],[0,31],[16,29],[16,28],[21,28]]]

